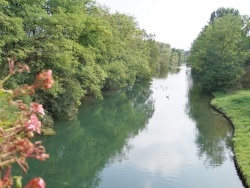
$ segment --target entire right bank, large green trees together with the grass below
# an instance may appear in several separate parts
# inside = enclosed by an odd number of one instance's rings
[[[250,186],[250,19],[238,10],[220,8],[192,44],[188,64],[211,104],[232,121],[235,159],[246,186]],[[244,90],[242,90],[244,89]],[[220,92],[218,92],[220,91]]]

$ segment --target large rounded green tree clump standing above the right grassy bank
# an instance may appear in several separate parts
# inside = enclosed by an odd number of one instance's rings
[[[188,62],[203,89],[215,91],[239,85],[249,53],[246,23],[249,20],[237,10],[218,9],[193,42]]]

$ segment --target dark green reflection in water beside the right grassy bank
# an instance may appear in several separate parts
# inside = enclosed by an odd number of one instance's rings
[[[204,158],[207,168],[214,168],[227,160],[233,160],[232,135],[233,129],[229,122],[210,107],[211,96],[202,93],[197,81],[191,85],[188,92],[186,111],[196,122],[197,155]]]

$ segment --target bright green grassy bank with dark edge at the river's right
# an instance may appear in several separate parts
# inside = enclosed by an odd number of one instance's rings
[[[235,164],[246,187],[250,187],[250,90],[214,93],[212,107],[234,126]]]

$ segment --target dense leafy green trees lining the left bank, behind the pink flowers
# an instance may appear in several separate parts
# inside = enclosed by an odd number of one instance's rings
[[[101,99],[103,89],[149,80],[159,59],[154,35],[134,17],[111,14],[92,0],[0,0],[0,37],[1,77],[7,75],[6,56],[31,68],[6,87],[53,70],[54,88],[34,99],[54,117],[73,117],[85,95]]]

